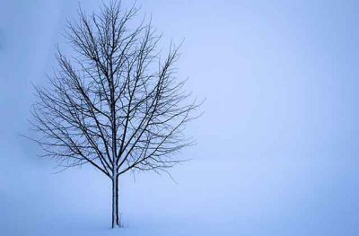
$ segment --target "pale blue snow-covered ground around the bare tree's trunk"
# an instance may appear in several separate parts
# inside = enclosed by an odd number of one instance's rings
[[[0,167],[1,235],[355,235],[359,219],[359,174],[344,159],[223,158],[178,166],[178,184],[149,173],[121,179],[124,228],[111,230],[100,173],[51,174],[49,162],[25,161],[2,141],[13,156]]]

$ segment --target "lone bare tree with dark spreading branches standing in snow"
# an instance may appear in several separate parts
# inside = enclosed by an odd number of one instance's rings
[[[36,86],[31,108],[36,142],[64,168],[91,164],[112,182],[112,228],[120,226],[118,177],[127,171],[167,171],[192,144],[183,128],[196,99],[177,81],[171,46],[162,60],[151,23],[133,27],[137,9],[119,3],[68,22],[74,55],[57,50],[49,86]]]

